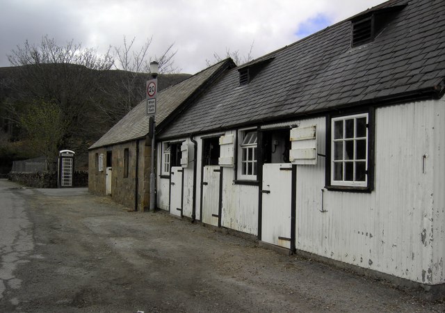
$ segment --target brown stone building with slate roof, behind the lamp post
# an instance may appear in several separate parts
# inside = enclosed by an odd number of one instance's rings
[[[234,66],[227,59],[162,90],[156,99],[156,128],[168,125],[171,118]],[[149,129],[143,100],[89,148],[90,192],[111,195],[116,202],[136,211],[148,209],[152,151],[152,141],[147,138]]]

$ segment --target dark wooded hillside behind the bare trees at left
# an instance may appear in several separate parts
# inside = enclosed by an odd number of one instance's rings
[[[158,90],[190,76],[160,74]],[[0,175],[9,171],[12,161],[40,157],[29,145],[29,134],[15,122],[35,102],[60,107],[67,128],[60,149],[78,152],[83,161],[77,167],[85,168],[89,145],[145,98],[147,79],[149,74],[88,70],[79,65],[0,67]]]

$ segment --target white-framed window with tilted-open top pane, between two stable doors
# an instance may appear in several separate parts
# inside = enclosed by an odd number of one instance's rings
[[[238,179],[257,179],[257,131],[240,131]]]

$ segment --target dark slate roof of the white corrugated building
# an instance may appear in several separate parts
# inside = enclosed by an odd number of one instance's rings
[[[403,4],[373,42],[351,48],[348,19],[252,61],[263,67],[248,85],[230,70],[158,138],[442,95],[445,1],[391,0],[362,14]]]

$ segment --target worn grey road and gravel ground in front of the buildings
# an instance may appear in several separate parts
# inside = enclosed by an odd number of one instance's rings
[[[0,312],[445,312],[389,284],[86,188],[0,179]]]

